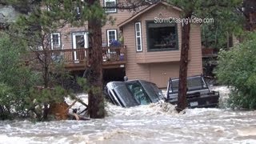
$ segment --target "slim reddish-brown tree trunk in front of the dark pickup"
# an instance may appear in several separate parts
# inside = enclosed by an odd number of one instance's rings
[[[186,14],[185,18],[191,18],[191,14]],[[186,109],[186,77],[187,77],[187,65],[190,49],[190,22],[182,24],[182,50],[181,60],[179,67],[179,82],[178,82],[178,106],[176,110],[178,112]]]

